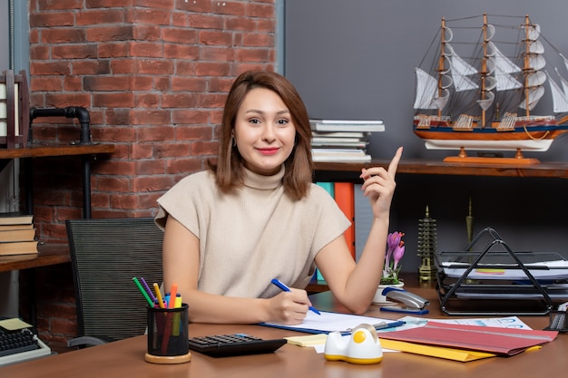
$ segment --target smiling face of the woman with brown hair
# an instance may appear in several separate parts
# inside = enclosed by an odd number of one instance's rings
[[[234,130],[247,169],[260,175],[277,173],[292,152],[295,137],[290,112],[276,92],[255,88],[247,93]]]

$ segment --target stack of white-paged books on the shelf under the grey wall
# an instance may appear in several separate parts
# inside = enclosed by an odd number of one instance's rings
[[[309,120],[314,161],[368,161],[371,132],[385,131],[383,121]]]

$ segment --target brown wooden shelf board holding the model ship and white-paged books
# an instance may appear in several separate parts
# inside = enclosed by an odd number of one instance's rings
[[[315,163],[316,175],[325,180],[332,172],[351,173],[358,178],[362,168],[372,166],[388,167],[390,160],[371,160],[366,162],[324,162]],[[354,175],[356,173],[357,175]],[[401,160],[397,173],[423,175],[458,175],[458,176],[498,176],[568,179],[568,163],[561,161],[541,162],[540,164],[472,164],[451,163],[442,160]]]

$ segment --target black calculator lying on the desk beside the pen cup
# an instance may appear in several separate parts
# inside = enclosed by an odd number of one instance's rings
[[[244,354],[267,354],[286,344],[285,339],[263,340],[250,334],[218,334],[190,337],[190,349],[211,357]]]

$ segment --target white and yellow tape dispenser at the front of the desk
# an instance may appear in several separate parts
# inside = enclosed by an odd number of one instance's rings
[[[328,361],[373,364],[383,361],[383,349],[373,325],[357,325],[349,337],[339,332],[328,334],[324,356]]]

